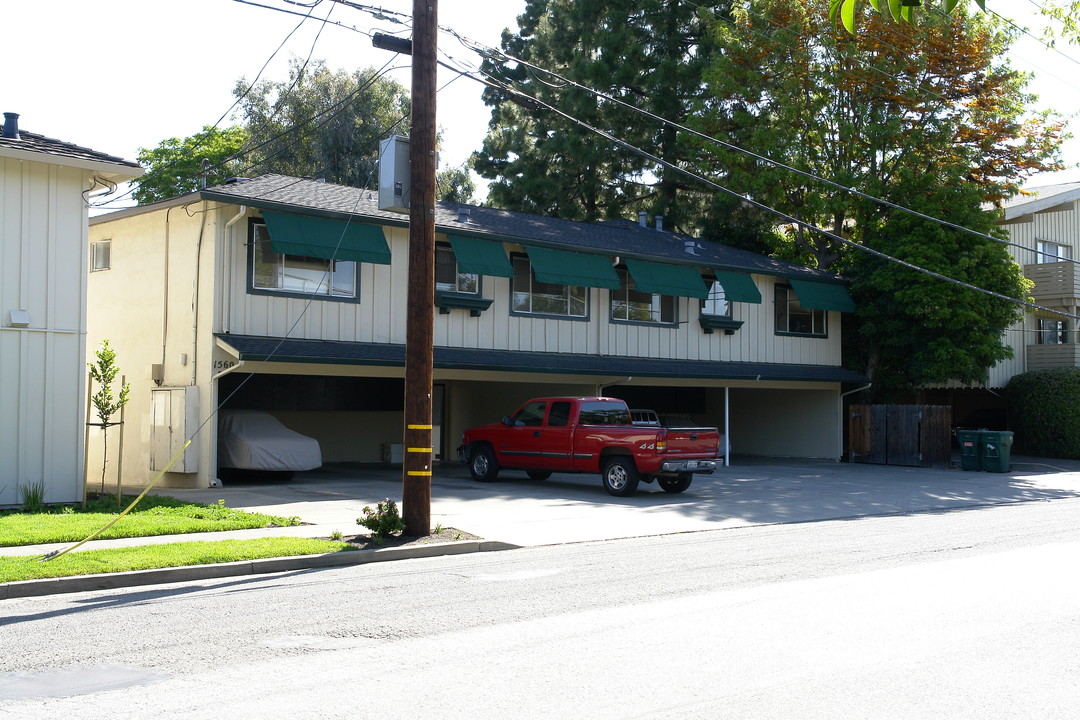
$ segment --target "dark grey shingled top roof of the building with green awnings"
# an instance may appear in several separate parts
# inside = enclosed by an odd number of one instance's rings
[[[201,195],[205,200],[249,205],[268,210],[307,213],[340,219],[353,217],[399,227],[408,225],[406,216],[379,209],[377,191],[286,175],[237,179],[207,188],[201,191]],[[462,208],[469,210],[467,222],[459,220],[462,217]],[[435,229],[457,235],[581,253],[663,260],[700,268],[737,270],[825,283],[845,282],[833,273],[719,243],[700,241],[691,235],[652,230],[630,220],[578,222],[477,205],[440,202],[435,207]],[[686,249],[688,242],[692,244],[693,254]]]

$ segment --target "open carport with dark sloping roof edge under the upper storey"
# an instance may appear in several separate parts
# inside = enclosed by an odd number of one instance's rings
[[[400,461],[404,345],[226,334],[217,341],[238,361],[218,376],[218,404],[272,412],[319,439],[326,462]],[[436,459],[453,461],[467,427],[531,397],[606,394],[716,425],[740,454],[837,460],[845,383],[863,378],[820,365],[436,347],[433,443]]]

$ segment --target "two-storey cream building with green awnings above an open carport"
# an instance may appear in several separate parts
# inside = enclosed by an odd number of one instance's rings
[[[440,204],[433,443],[543,394],[618,395],[730,429],[737,452],[838,459],[841,279],[632,221]],[[340,246],[339,246],[340,242]],[[216,477],[219,405],[396,459],[407,217],[376,193],[266,175],[94,218],[90,340],[130,373],[125,481]],[[330,260],[330,258],[336,258]],[[849,383],[845,386],[843,383]],[[396,447],[395,447],[396,446]]]

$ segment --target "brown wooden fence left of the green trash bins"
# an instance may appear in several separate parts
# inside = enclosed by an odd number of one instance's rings
[[[948,467],[951,416],[945,405],[852,405],[848,408],[848,460]]]

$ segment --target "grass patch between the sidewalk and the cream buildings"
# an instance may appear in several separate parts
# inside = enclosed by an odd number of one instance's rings
[[[126,507],[131,500],[133,498],[126,498],[122,507]],[[0,547],[79,542],[107,525],[119,512],[114,498],[103,498],[89,503],[85,508],[63,506],[40,513],[3,512],[0,513]],[[226,507],[224,500],[205,505],[183,502],[167,495],[147,495],[135,510],[98,535],[97,540],[291,525],[300,525],[299,518],[247,513]]]

